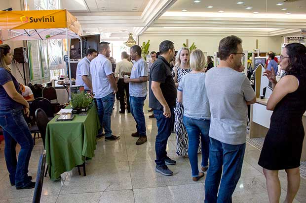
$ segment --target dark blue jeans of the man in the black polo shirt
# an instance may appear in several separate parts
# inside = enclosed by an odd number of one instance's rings
[[[167,157],[167,142],[171,135],[172,123],[174,122],[174,111],[171,110],[171,117],[165,117],[162,110],[153,110],[157,123],[157,136],[155,140],[155,152],[157,166],[165,166],[165,158]]]

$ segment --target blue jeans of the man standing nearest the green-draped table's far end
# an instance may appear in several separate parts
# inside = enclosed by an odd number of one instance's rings
[[[115,103],[115,94],[111,93],[103,98],[96,99],[98,106],[98,116],[101,124],[99,134],[105,131],[105,137],[112,136],[111,129],[111,116],[113,113],[113,107]]]

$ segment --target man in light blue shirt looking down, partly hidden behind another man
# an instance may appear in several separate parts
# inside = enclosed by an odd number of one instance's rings
[[[82,58],[76,67],[76,85],[84,86],[85,91],[92,91],[91,75],[90,75],[90,61],[97,57],[95,49],[88,49],[86,56]]]

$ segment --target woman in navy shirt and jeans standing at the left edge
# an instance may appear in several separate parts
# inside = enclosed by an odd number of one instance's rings
[[[29,116],[29,103],[22,97],[19,83],[8,67],[12,54],[7,44],[0,45],[0,126],[3,129],[4,156],[11,185],[16,189],[35,187],[28,176],[29,161],[34,146],[30,129],[23,114]],[[16,144],[21,146],[16,159]]]

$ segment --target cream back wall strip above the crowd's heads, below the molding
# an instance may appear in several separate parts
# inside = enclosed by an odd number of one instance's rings
[[[163,40],[171,40],[175,45],[175,49],[179,50],[186,39],[189,40],[189,46],[194,42],[197,49],[207,52],[208,55],[213,56],[214,52],[218,52],[220,40],[225,36],[139,36],[139,44],[147,42],[150,39],[150,52],[159,50],[159,43]],[[238,36],[240,37],[240,36]],[[241,36],[243,50],[252,52],[256,48],[256,39],[258,39],[258,46],[261,52],[273,51],[281,52],[281,36],[273,37],[257,37],[257,36]]]

